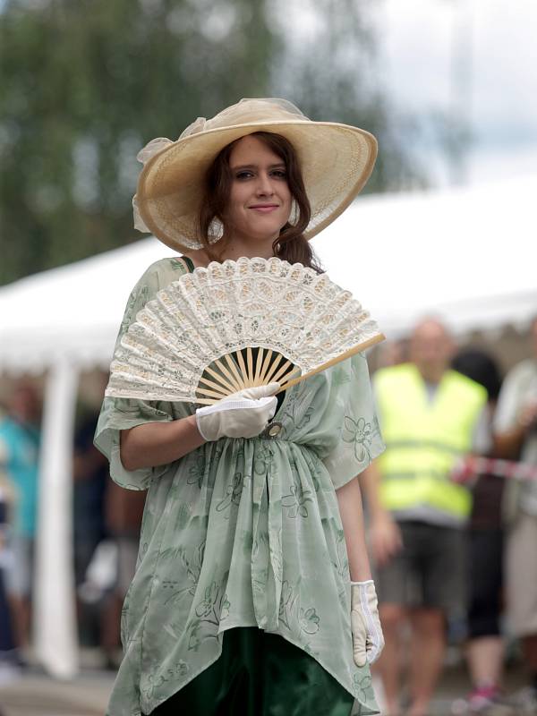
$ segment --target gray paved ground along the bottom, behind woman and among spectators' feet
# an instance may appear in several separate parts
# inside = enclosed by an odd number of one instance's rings
[[[58,682],[37,669],[30,669],[24,677],[0,686],[2,716],[103,716],[113,679],[114,675],[108,671],[84,669],[80,677]],[[509,690],[521,686],[522,682],[519,667],[508,670]],[[430,716],[450,716],[451,704],[465,695],[467,689],[464,669],[460,666],[446,669],[437,697],[431,704]]]

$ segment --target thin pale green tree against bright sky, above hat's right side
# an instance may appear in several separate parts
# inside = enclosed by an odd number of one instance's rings
[[[283,0],[285,2],[285,0]],[[283,94],[311,119],[353,124],[379,140],[379,156],[363,192],[425,184],[408,149],[419,132],[413,117],[390,105],[379,60],[379,0],[301,0],[282,26],[285,52],[277,65]],[[308,20],[302,22],[304,13]],[[296,38],[296,29],[304,27]]]

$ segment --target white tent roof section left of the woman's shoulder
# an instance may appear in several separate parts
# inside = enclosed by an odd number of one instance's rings
[[[107,366],[132,286],[171,253],[142,239],[0,288],[0,370],[40,372],[58,355]]]

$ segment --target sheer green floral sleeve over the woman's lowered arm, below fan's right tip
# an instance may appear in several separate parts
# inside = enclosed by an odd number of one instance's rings
[[[350,362],[350,380],[341,386],[345,389],[345,407],[341,416],[339,441],[323,459],[336,490],[362,473],[385,447],[380,435],[365,356],[356,354]]]

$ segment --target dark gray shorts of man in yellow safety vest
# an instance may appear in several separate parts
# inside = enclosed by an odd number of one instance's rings
[[[424,522],[397,523],[403,549],[377,568],[379,602],[465,613],[465,532]]]

